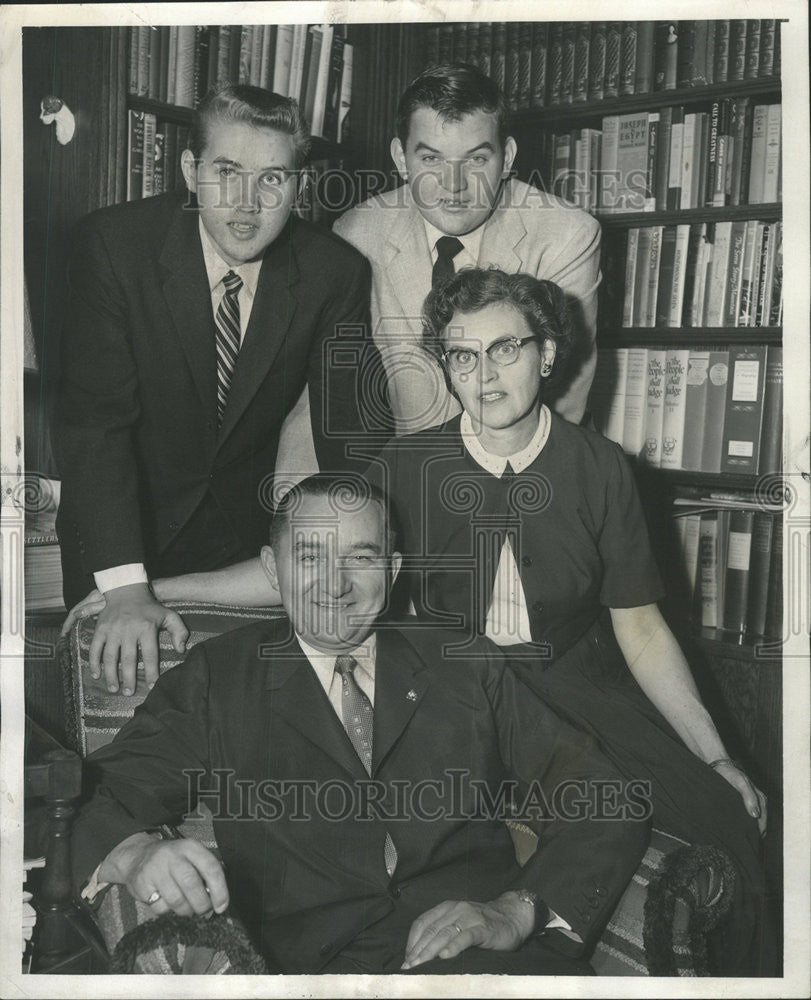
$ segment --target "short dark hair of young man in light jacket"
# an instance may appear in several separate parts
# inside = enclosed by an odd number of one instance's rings
[[[411,116],[418,108],[436,111],[443,121],[458,122],[463,115],[484,111],[496,116],[502,145],[508,136],[510,111],[498,84],[470,63],[432,66],[408,85],[397,105],[397,137],[405,149]]]

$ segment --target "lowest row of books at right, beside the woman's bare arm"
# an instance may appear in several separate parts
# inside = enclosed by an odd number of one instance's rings
[[[692,506],[692,510],[691,510]],[[703,628],[781,638],[783,521],[755,504],[708,509],[696,503],[674,518],[681,571],[693,617]]]

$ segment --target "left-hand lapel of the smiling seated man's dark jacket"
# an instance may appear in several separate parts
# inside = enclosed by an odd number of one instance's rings
[[[295,638],[267,655],[271,713],[353,778],[365,777],[366,769]]]

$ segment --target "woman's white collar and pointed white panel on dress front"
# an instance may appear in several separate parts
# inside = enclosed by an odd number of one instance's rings
[[[514,455],[492,455],[486,451],[476,436],[467,413],[462,414],[459,430],[465,448],[474,462],[491,476],[501,479],[508,462],[516,473],[523,472],[532,465],[549,437],[549,424],[549,410],[541,406],[537,431],[526,448]],[[526,596],[509,537],[504,539],[501,547],[493,581],[493,596],[487,611],[485,635],[499,646],[514,646],[519,642],[532,641]]]

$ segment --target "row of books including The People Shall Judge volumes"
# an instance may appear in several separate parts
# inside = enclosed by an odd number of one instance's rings
[[[781,467],[783,349],[598,351],[589,409],[646,465],[758,475]]]

